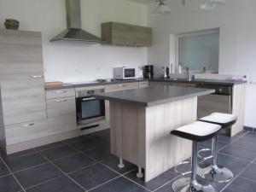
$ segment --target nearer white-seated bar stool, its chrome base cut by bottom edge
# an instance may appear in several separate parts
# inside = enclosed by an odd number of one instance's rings
[[[195,123],[184,125],[171,131],[172,135],[193,141],[191,172],[186,172],[186,174],[191,173],[191,177],[181,177],[174,181],[174,183],[172,183],[172,190],[174,192],[215,192],[212,185],[201,185],[201,183],[198,183],[196,180],[197,149],[198,142],[204,142],[215,137],[220,128],[220,125],[195,121]]]

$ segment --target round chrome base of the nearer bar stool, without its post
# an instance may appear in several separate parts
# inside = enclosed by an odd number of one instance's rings
[[[172,183],[172,190],[174,192],[216,192],[212,185],[201,185],[196,181],[191,183],[189,177],[182,177]]]

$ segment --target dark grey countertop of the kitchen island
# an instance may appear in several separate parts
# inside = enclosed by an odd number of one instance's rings
[[[145,107],[174,102],[194,96],[205,96],[214,93],[215,90],[179,87],[179,86],[155,86],[137,90],[121,90],[109,93],[99,93],[96,98],[109,101],[132,102]]]

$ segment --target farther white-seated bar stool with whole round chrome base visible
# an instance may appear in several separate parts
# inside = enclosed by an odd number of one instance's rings
[[[204,118],[199,119],[201,122],[207,122],[215,125],[220,125],[222,129],[227,129],[231,125],[236,123],[236,115],[228,114],[228,113],[212,113]],[[212,158],[212,165],[207,166],[206,164],[203,165],[206,168],[201,169],[200,166],[198,167],[200,172],[197,172],[198,175],[204,179],[207,179],[212,182],[217,183],[224,183],[229,182],[233,177],[233,172],[231,172],[226,167],[218,166],[218,135],[212,138],[212,149],[203,148],[198,152],[198,155],[202,158],[201,152],[212,150],[212,155],[205,159]]]

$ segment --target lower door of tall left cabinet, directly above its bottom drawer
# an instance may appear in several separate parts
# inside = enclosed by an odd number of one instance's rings
[[[1,85],[4,125],[46,119],[44,79],[4,81]]]

